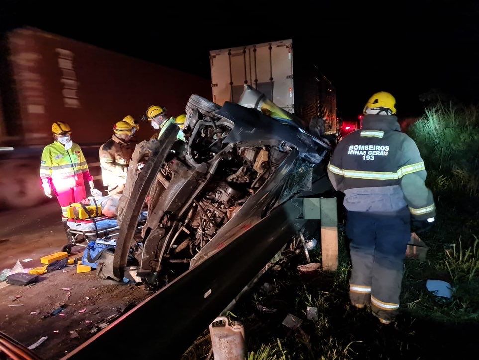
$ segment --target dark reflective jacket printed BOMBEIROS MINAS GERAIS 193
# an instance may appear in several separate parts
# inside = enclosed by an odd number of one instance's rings
[[[362,130],[339,142],[328,175],[334,188],[345,193],[349,211],[388,213],[408,206],[417,220],[435,216],[424,161],[396,116],[366,115]]]

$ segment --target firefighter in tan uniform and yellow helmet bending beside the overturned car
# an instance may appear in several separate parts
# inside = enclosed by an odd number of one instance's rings
[[[126,184],[126,173],[135,144],[131,138],[135,128],[126,121],[118,121],[113,126],[113,136],[101,145],[99,150],[103,185],[108,186],[108,194],[121,194]]]

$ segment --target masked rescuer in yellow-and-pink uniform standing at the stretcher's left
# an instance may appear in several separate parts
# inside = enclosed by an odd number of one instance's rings
[[[84,181],[94,189],[82,149],[71,139],[72,130],[64,122],[52,125],[54,142],[45,146],[40,165],[40,178],[45,195],[57,197],[66,218],[66,208],[86,198]]]

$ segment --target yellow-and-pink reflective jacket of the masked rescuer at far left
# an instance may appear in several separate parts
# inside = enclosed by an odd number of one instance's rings
[[[58,141],[43,149],[40,178],[43,184],[53,185],[54,189],[60,191],[93,180],[80,146],[73,143],[66,150]]]

